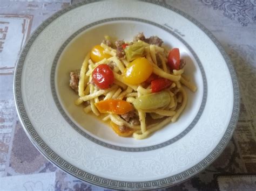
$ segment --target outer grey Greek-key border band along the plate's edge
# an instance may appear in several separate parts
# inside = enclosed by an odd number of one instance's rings
[[[22,95],[21,95],[22,93],[21,93],[21,78],[18,75],[21,75],[22,73],[25,57],[26,57],[26,54],[28,53],[28,51],[26,52],[26,49],[29,50],[30,46],[33,43],[33,40],[35,40],[38,34],[40,34],[46,26],[48,26],[51,22],[53,22],[53,20],[62,16],[64,13],[72,9],[78,8],[79,6],[86,5],[89,3],[94,3],[94,2],[99,2],[99,1],[86,0],[84,2],[80,2],[75,5],[70,5],[67,8],[64,8],[63,10],[56,12],[51,17],[46,19],[42,24],[40,24],[37,27],[37,29],[33,31],[33,33],[30,35],[29,39],[26,40],[26,43],[23,46],[22,51],[19,54],[19,57],[16,63],[15,73],[14,73],[14,85],[13,85],[16,111],[18,114],[19,122],[21,122],[26,135],[29,137],[30,141],[37,148],[37,150],[41,152],[46,159],[48,159],[50,162],[55,164],[58,168],[62,169],[62,171],[95,186],[100,186],[100,187],[105,187],[110,189],[156,189],[156,188],[165,188],[165,187],[174,186],[174,185],[177,185],[178,183],[186,181],[189,178],[192,178],[193,176],[197,175],[199,172],[203,171],[203,169],[209,166],[216,158],[218,158],[219,155],[223,152],[228,142],[230,141],[233,135],[233,132],[235,130],[235,126],[237,125],[239,111],[240,111],[239,84],[238,84],[237,74],[235,73],[235,69],[230,58],[228,57],[227,53],[225,52],[224,48],[221,46],[219,41],[213,36],[213,34],[203,24],[198,22],[198,20],[189,16],[187,13],[180,11],[177,8],[174,8],[171,5],[167,5],[162,2],[155,2],[153,0],[142,0],[142,2],[159,5],[163,8],[176,12],[178,13],[178,15],[185,17],[186,19],[190,20],[190,22],[192,22],[197,27],[199,27],[199,29],[203,31],[208,36],[208,38],[211,39],[211,41],[215,44],[215,46],[218,48],[219,52],[223,56],[225,63],[228,67],[228,70],[230,72],[232,86],[233,86],[233,94],[234,94],[233,110],[232,110],[232,115],[230,118],[230,122],[228,123],[227,129],[223,137],[221,137],[220,142],[213,149],[213,151],[210,154],[208,154],[207,157],[205,157],[203,160],[198,162],[197,165],[194,165],[190,169],[187,169],[186,171],[181,172],[179,174],[172,175],[163,179],[151,180],[151,181],[139,181],[139,182],[132,181],[131,182],[131,181],[118,181],[118,180],[102,178],[100,176],[96,176],[91,173],[87,173],[85,171],[80,170],[78,167],[76,167],[75,165],[69,164],[69,162],[66,162],[64,159],[59,157],[55,152],[53,152],[51,148],[43,142],[42,138],[38,136],[37,132],[35,131],[33,126],[30,124],[30,119],[26,114],[24,105],[23,105],[23,108],[19,107],[20,106],[19,104],[21,104],[21,101],[22,101]],[[226,135],[227,133],[228,135]],[[225,140],[223,140],[224,138]]]

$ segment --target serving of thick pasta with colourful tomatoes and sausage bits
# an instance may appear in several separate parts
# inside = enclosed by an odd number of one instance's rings
[[[162,44],[143,33],[132,42],[112,43],[105,36],[70,74],[70,87],[79,95],[75,104],[109,121],[122,137],[144,139],[176,122],[187,103],[184,87],[197,87],[183,74],[179,49],[167,51]]]

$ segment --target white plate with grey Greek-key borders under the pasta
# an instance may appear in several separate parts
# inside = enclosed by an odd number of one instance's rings
[[[165,7],[164,7],[165,6]],[[197,84],[176,123],[147,139],[114,134],[73,101],[69,72],[104,34],[131,40],[138,32],[179,47]],[[230,140],[239,114],[234,68],[217,39],[197,20],[161,3],[79,3],[46,20],[16,66],[16,107],[31,142],[78,179],[113,189],[174,185],[202,171]]]

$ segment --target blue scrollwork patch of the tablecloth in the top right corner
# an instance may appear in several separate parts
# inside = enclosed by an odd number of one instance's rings
[[[238,20],[242,26],[256,23],[256,0],[200,0],[214,10],[224,11],[223,15]]]

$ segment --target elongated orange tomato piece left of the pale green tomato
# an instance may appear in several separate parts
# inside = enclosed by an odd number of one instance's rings
[[[98,103],[95,103],[95,106],[101,113],[111,113],[118,115],[125,114],[133,109],[131,103],[124,100],[114,99],[102,100]]]

